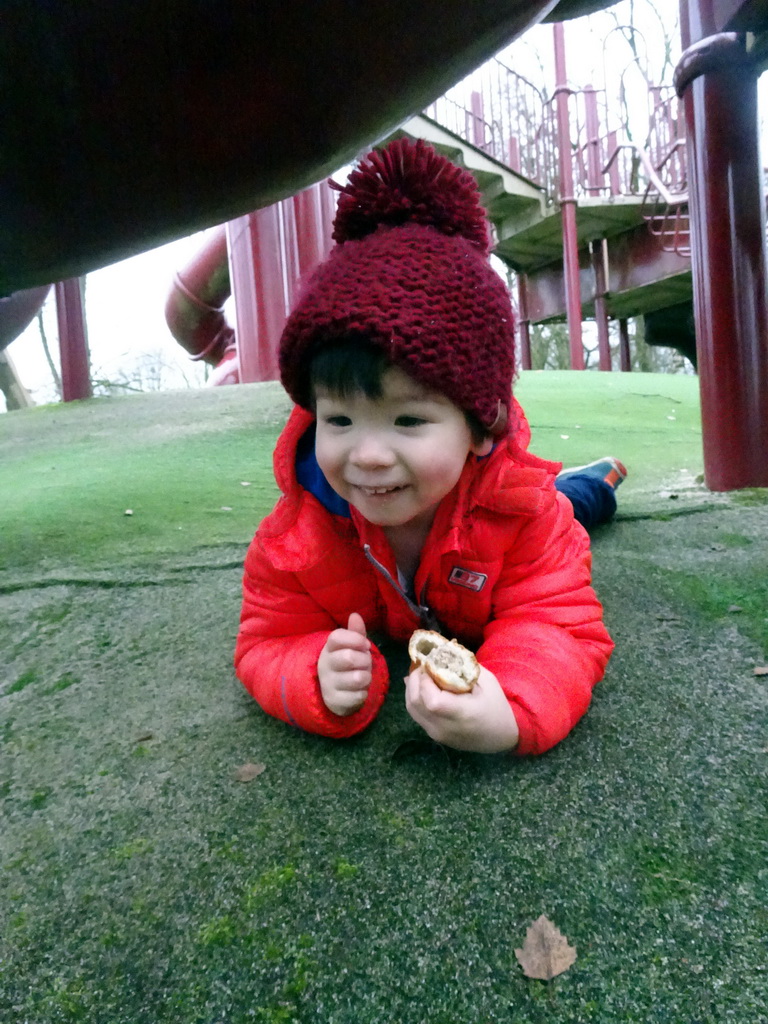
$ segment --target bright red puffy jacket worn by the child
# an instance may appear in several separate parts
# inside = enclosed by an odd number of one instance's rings
[[[274,452],[283,497],[246,556],[234,653],[238,677],[267,714],[327,736],[365,729],[388,689],[386,663],[373,646],[368,699],[334,715],[317,680],[329,633],[358,611],[369,633],[407,642],[415,629],[434,628],[432,614],[498,678],[519,727],[515,753],[542,754],[570,731],[613,644],[590,586],[589,538],[554,487],[560,467],[525,451],[529,430],[517,413],[515,435],[489,456],[470,456],[440,503],[417,605],[397,585],[382,529],[354,508],[329,511],[298,482],[297,446],[314,420],[294,409]]]

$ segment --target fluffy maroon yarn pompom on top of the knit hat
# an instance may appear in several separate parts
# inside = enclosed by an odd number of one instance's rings
[[[417,223],[460,234],[484,255],[489,250],[485,211],[475,179],[423,139],[395,139],[369,154],[349,175],[334,221],[339,244],[371,234],[380,224]]]

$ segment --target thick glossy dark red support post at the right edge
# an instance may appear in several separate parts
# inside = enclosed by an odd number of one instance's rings
[[[712,4],[680,0],[705,479],[768,486],[768,302],[757,72]]]

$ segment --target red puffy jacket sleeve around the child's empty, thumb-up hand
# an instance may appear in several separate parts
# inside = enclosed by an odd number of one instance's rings
[[[358,711],[334,715],[321,694],[317,658],[329,634],[342,625],[346,623],[335,622],[295,573],[269,563],[257,534],[246,558],[234,668],[268,715],[334,738],[352,736],[371,724],[389,686],[386,663],[375,646],[368,699]]]

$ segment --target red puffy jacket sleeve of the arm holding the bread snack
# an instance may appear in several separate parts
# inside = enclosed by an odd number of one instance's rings
[[[507,555],[477,658],[515,713],[516,754],[543,754],[566,736],[605,672],[613,643],[591,567],[589,537],[561,495]]]

